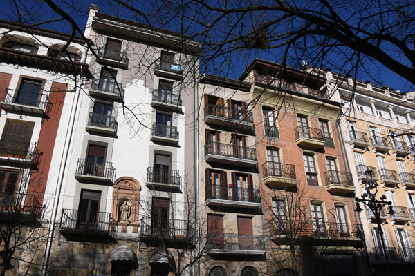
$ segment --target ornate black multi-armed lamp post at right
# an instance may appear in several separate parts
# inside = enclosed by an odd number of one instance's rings
[[[369,210],[371,210],[371,212],[374,214],[374,217],[376,219],[376,224],[378,225],[378,233],[379,233],[379,237],[380,237],[380,242],[382,244],[382,249],[383,249],[383,255],[385,255],[385,263],[387,266],[387,274],[390,275],[389,273],[389,260],[387,258],[387,253],[386,253],[386,247],[385,247],[385,240],[383,239],[383,230],[382,230],[382,226],[380,225],[380,214],[382,212],[382,209],[385,205],[389,206],[389,212],[387,213],[388,215],[394,215],[395,211],[392,208],[391,201],[384,201],[386,199],[385,195],[382,195],[380,197],[380,200],[376,200],[376,193],[378,193],[378,184],[376,182],[374,182],[373,179],[373,171],[367,169],[365,171],[365,175],[366,175],[366,183],[365,183],[365,193],[363,193],[362,198],[358,198],[356,197],[356,212],[360,213],[362,212],[362,208],[360,208],[360,203],[364,204],[367,206],[367,208],[369,208]],[[366,197],[369,197],[369,199],[366,199]]]

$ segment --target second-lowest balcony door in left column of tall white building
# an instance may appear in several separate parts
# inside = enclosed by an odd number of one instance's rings
[[[106,146],[89,144],[86,156],[85,175],[104,176]]]

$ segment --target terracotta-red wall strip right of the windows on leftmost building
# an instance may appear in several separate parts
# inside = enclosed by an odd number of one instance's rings
[[[43,202],[44,190],[48,181],[50,163],[52,161],[53,148],[57,136],[57,128],[64,108],[66,96],[66,84],[53,82],[50,89],[48,105],[50,105],[49,119],[44,119],[42,130],[40,131],[37,149],[43,152],[40,159],[39,172],[33,171],[33,175],[28,187],[28,193],[35,193],[37,200]]]

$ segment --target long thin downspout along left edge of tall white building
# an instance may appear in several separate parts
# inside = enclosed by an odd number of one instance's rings
[[[88,56],[88,54],[89,54],[89,50],[87,49],[86,52],[85,52],[85,57],[84,57],[83,63],[86,63],[86,57]],[[46,276],[46,273],[48,272],[50,250],[51,250],[52,244],[53,244],[53,234],[54,234],[54,230],[55,230],[56,217],[57,217],[57,208],[59,206],[59,199],[60,199],[60,194],[61,194],[61,191],[62,191],[62,184],[64,182],[66,164],[68,163],[69,148],[71,147],[71,142],[72,142],[72,137],[73,137],[73,128],[75,126],[75,121],[76,121],[76,118],[77,118],[76,115],[77,115],[78,103],[80,101],[80,95],[82,94],[81,88],[82,88],[82,85],[83,85],[83,81],[82,81],[82,79],[83,79],[83,68],[84,68],[83,63],[81,63],[80,85],[78,86],[78,89],[77,89],[77,97],[73,97],[71,115],[69,116],[70,119],[72,118],[72,123],[71,123],[71,127],[68,125],[68,128],[66,129],[64,148],[62,150],[62,157],[61,157],[61,161],[59,163],[59,172],[58,172],[58,183],[59,184],[55,187],[55,193],[54,193],[54,197],[53,197],[52,217],[50,218],[50,224],[49,224],[49,228],[48,228],[48,239],[47,239],[47,242],[46,242],[46,252],[45,252],[45,256],[44,256],[44,262],[43,262],[43,265],[42,265],[42,276]],[[73,103],[75,102],[75,99],[76,99],[76,103],[74,105]],[[69,130],[69,128],[71,128],[71,130]],[[69,131],[71,131],[70,135],[68,135]],[[65,151],[66,151],[66,153],[65,153]]]

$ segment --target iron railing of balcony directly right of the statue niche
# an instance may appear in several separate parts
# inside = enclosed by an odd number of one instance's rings
[[[194,237],[192,221],[189,220],[156,216],[143,217],[140,226],[141,237],[160,237],[164,239],[192,239]]]

